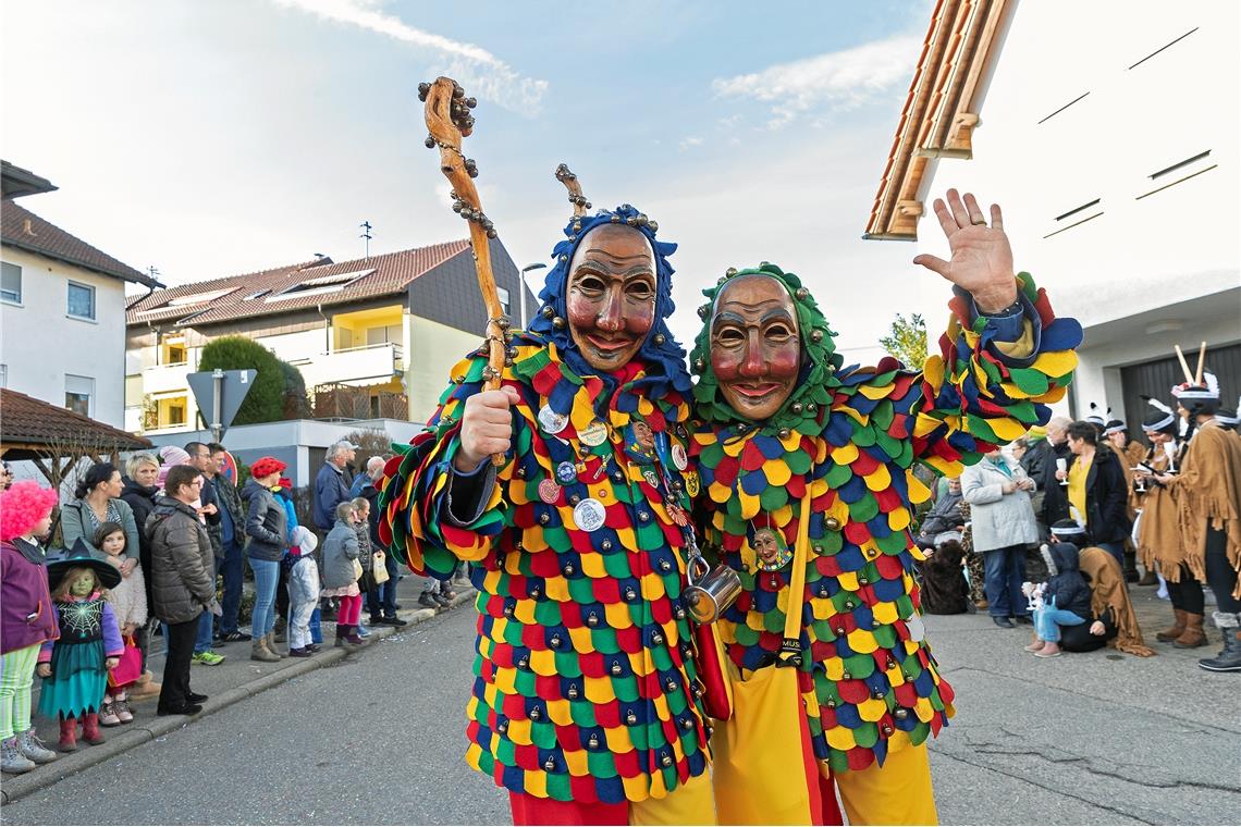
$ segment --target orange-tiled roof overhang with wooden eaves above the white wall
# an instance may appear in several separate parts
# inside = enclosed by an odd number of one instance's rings
[[[862,238],[916,241],[927,164],[973,156],[979,87],[1014,6],[1009,0],[936,2]]]

